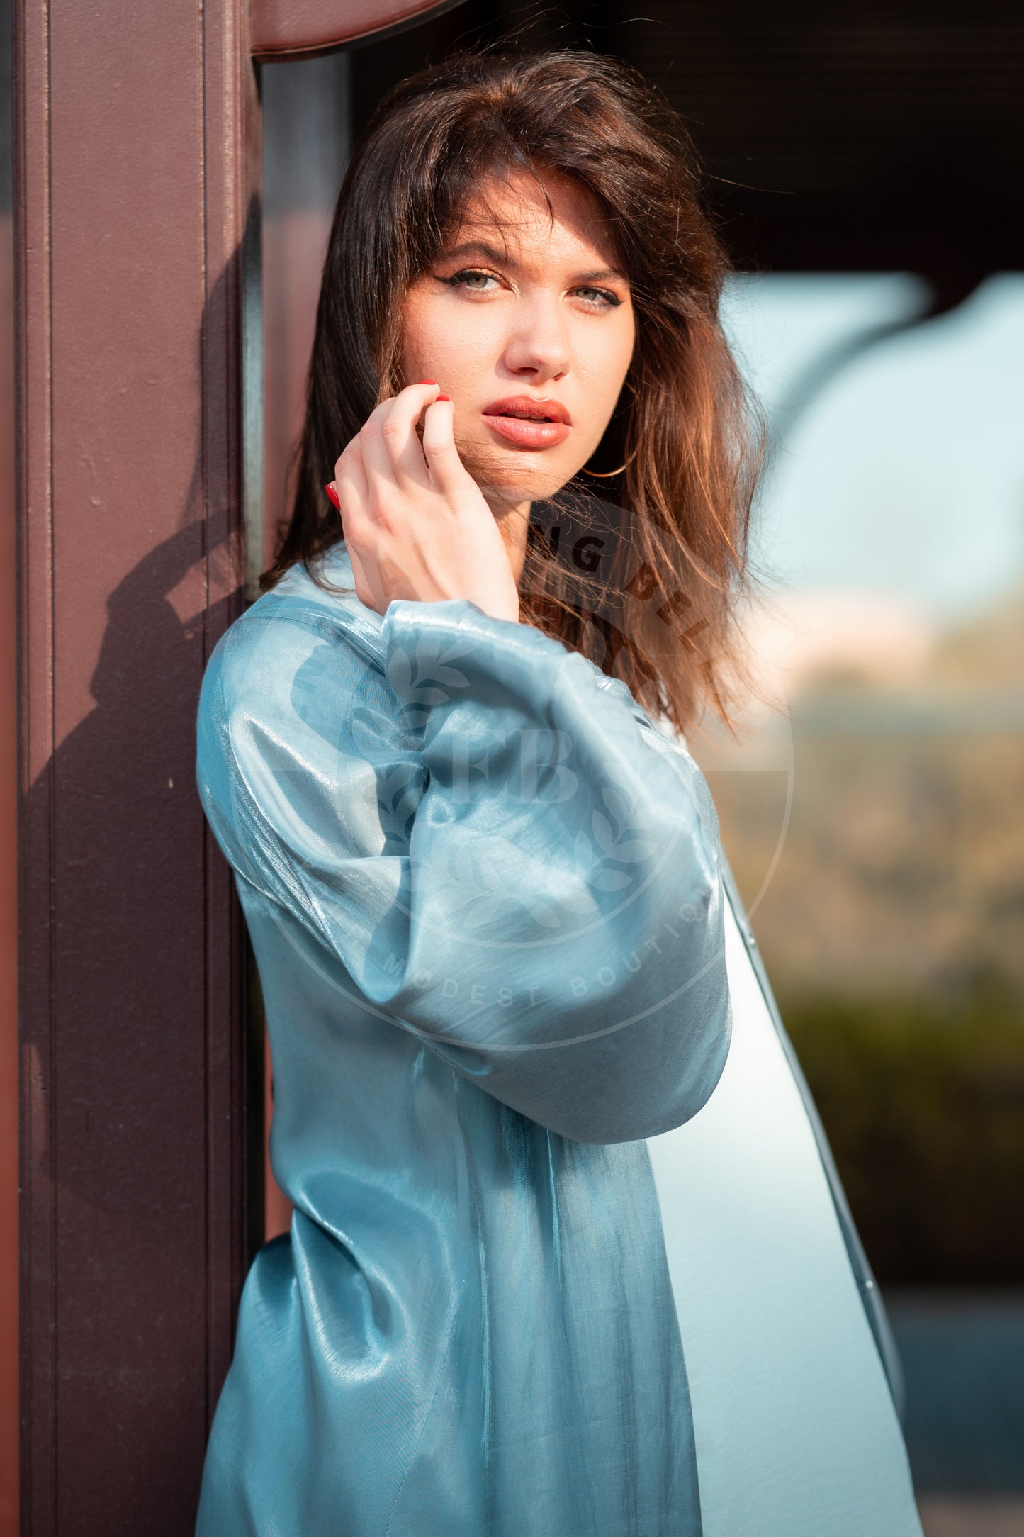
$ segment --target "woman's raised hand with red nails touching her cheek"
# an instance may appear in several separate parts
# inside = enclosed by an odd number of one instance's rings
[[[382,401],[335,466],[356,595],[381,615],[396,598],[470,598],[496,619],[517,621],[505,541],[459,458],[451,401],[438,392],[408,384]]]

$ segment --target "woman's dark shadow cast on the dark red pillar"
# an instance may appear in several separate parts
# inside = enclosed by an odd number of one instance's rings
[[[224,277],[207,324],[226,292]],[[207,515],[206,472],[198,443],[181,526],[106,601],[95,707],[23,808],[31,902],[52,925],[26,927],[37,953],[23,971],[34,1416],[52,1416],[57,1436],[75,1426],[61,1483],[101,1479],[111,1531],[124,1532],[192,1529],[220,1388],[210,1311],[229,1282],[209,1259],[210,1225],[229,1220],[209,1208],[212,1173],[227,1193],[227,1131],[207,1124],[203,1085],[235,1071],[233,1042],[215,991],[224,961],[207,953],[203,891],[221,855],[195,787],[195,715],[210,644],[241,609],[241,561],[235,509]],[[207,609],[210,567],[223,596]],[[244,1182],[230,1173],[232,1202]],[[74,1526],[54,1492],[55,1523]]]

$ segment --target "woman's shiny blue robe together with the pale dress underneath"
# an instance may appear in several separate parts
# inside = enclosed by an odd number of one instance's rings
[[[737,1081],[731,987],[752,976],[706,784],[625,684],[539,630],[465,599],[381,618],[344,546],[324,575],[348,590],[296,567],[232,626],[200,704],[295,1213],[246,1280],[197,1537],[792,1537],[800,1491],[778,1514],[751,1496],[780,1439],[751,1422],[723,1445],[717,1383],[743,1357],[714,1294],[743,1234],[717,1247],[691,1188],[731,1145],[729,1105],[749,1110],[732,1090],[699,1114]],[[874,1480],[872,1532],[918,1537],[884,1325],[758,996],[806,1130],[794,1167],[814,1165],[809,1247],[831,1256],[815,1323],[843,1336],[824,1349],[846,1451],[792,1462],[814,1485],[798,1529],[861,1537],[847,1494]],[[786,1242],[783,1276],[808,1260]],[[758,1386],[754,1419],[781,1408],[800,1440],[795,1311],[771,1276],[746,1291],[734,1306],[772,1313],[754,1376],[775,1402]],[[718,1505],[737,1463],[738,1523],[708,1508],[702,1457]]]

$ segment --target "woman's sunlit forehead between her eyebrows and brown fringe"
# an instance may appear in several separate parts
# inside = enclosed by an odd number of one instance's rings
[[[447,244],[470,241],[496,246],[513,261],[547,258],[613,266],[617,257],[594,194],[559,171],[485,177],[464,203]]]

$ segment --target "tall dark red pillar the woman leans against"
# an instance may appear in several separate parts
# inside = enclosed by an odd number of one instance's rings
[[[263,564],[253,54],[322,52],[441,8],[263,0],[250,25],[244,0],[18,5],[32,1537],[190,1532],[261,1237],[261,1050],[193,782],[203,667]]]

